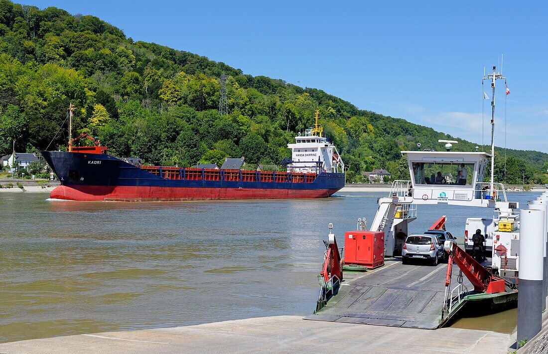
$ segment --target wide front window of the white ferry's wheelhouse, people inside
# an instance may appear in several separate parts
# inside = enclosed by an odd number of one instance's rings
[[[415,184],[471,186],[475,164],[463,162],[413,162]]]

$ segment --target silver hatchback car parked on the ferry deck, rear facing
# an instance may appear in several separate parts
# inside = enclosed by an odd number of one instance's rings
[[[407,264],[412,259],[428,260],[432,266],[437,266],[445,259],[442,241],[436,235],[409,235],[403,244],[402,263]]]

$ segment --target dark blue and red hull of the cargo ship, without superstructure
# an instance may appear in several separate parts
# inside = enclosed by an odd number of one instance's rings
[[[42,151],[61,181],[51,198],[68,200],[204,200],[326,198],[344,173],[316,174],[139,167],[107,154]]]

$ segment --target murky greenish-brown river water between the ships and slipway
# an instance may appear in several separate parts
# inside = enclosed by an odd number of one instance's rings
[[[342,244],[386,195],[125,203],[2,193],[0,342],[310,314],[328,223]],[[523,205],[538,193],[508,196]],[[441,215],[463,235],[466,217],[492,210],[419,206],[410,232]]]

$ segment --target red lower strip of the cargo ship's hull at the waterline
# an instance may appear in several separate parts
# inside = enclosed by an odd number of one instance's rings
[[[65,200],[219,200],[327,198],[337,189],[59,186],[50,198]]]

